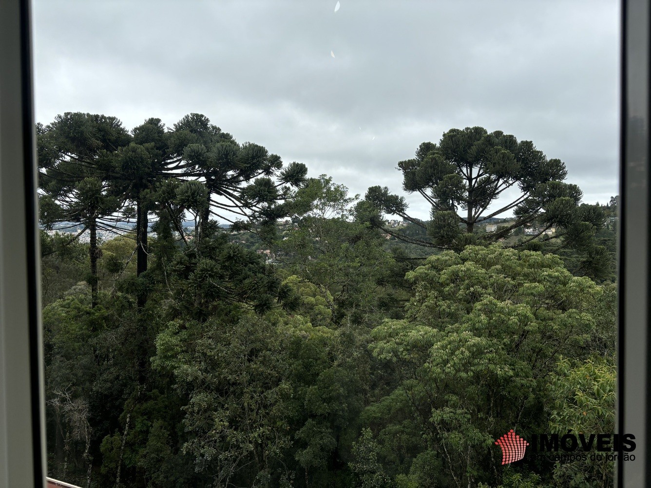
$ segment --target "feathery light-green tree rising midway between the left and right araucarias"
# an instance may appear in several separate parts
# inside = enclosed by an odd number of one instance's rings
[[[404,298],[391,281],[404,269],[359,219],[367,204],[358,199],[324,174],[312,178],[289,206],[296,223],[274,243],[278,259],[320,291],[335,323],[374,316]]]

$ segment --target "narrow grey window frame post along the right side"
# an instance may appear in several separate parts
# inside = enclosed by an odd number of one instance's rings
[[[616,427],[635,435],[635,461],[616,463],[616,485],[651,481],[651,334],[649,282],[649,0],[623,0],[621,10],[620,232]],[[622,452],[618,453],[621,459]]]

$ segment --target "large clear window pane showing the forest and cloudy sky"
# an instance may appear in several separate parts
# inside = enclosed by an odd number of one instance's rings
[[[48,476],[612,486],[619,15],[35,0]]]

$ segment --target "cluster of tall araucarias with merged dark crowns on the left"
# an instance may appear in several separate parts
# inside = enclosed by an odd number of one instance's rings
[[[286,215],[291,187],[307,168],[283,168],[266,148],[238,144],[201,114],[184,116],[173,129],[149,118],[130,133],[115,117],[65,113],[38,126],[42,220],[81,222],[90,229],[89,278],[96,297],[96,229],[135,219],[137,275],[147,271],[152,217],[183,237],[186,211],[197,217],[197,237],[210,216],[242,224],[269,224]],[[92,193],[94,191],[94,193]],[[232,217],[232,216],[235,217]],[[213,224],[214,225],[214,224]],[[141,287],[142,288],[142,287]],[[138,303],[144,305],[145,293]],[[94,298],[94,303],[96,298]]]

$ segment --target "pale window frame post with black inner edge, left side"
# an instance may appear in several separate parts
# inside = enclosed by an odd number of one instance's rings
[[[0,486],[45,486],[29,0],[0,1]]]

